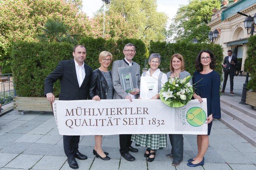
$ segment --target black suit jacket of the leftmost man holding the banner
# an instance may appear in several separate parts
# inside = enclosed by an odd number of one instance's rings
[[[45,79],[44,93],[52,93],[54,82],[60,79],[59,100],[87,100],[92,67],[84,64],[85,78],[79,87],[74,59],[60,61],[58,66]]]

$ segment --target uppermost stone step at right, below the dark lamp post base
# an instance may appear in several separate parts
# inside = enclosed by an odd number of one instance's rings
[[[246,107],[246,105],[238,104],[237,102],[230,103],[223,99],[220,99],[220,103],[224,103],[224,104],[228,105],[229,107],[232,107],[232,108],[256,119],[256,110],[253,110],[252,108],[248,108],[248,107]]]

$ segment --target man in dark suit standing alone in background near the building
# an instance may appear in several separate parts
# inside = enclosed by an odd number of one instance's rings
[[[225,92],[228,75],[230,79],[230,93],[234,94],[233,92],[233,86],[234,86],[234,72],[236,70],[236,64],[237,64],[237,57],[232,55],[232,51],[228,50],[228,56],[225,57],[224,62],[222,64],[223,71],[224,71],[224,81],[222,90],[220,92]]]

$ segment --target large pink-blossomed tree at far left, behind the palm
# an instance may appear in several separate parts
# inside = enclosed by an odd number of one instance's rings
[[[8,63],[10,46],[16,41],[36,41],[48,19],[63,20],[70,34],[87,35],[88,18],[79,12],[80,0],[4,0],[0,3],[0,66]],[[1,70],[1,68],[0,68]]]

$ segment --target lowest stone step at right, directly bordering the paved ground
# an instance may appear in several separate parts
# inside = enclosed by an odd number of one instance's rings
[[[218,120],[256,147],[256,131],[247,127],[223,111],[221,111],[221,119]]]

